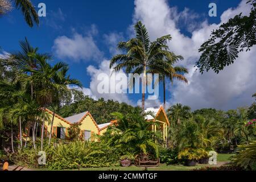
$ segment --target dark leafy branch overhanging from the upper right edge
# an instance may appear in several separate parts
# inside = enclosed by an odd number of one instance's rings
[[[210,39],[201,45],[201,56],[196,63],[201,73],[210,69],[216,73],[220,72],[234,63],[239,52],[250,51],[256,44],[256,0],[249,0],[247,3],[252,6],[249,16],[240,13],[229,19],[214,30]]]

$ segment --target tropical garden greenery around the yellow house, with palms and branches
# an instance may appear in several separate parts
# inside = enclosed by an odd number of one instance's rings
[[[33,26],[33,21],[38,24],[37,15],[31,10],[31,2],[24,2],[27,4],[15,1],[15,5],[17,8],[23,6],[22,11],[29,26]],[[201,46],[200,51],[203,51],[203,54],[197,63],[201,72],[209,69],[219,72],[226,65],[233,63],[236,54],[233,58],[229,56],[231,59],[227,63],[216,65],[217,63],[209,57],[227,56],[230,51],[215,48],[217,52],[226,53],[218,54],[209,50],[216,47],[214,39],[224,36],[220,32],[232,31],[229,26],[234,26],[234,23],[244,25],[243,21],[251,16],[254,16],[255,22],[255,1],[249,2],[252,5],[249,17],[238,15],[231,19],[220,30],[213,32],[212,38]],[[7,13],[7,7],[6,5],[6,11],[2,14]],[[255,24],[252,26],[255,28]],[[236,29],[240,31],[240,34],[236,34],[236,39],[240,38],[239,35],[243,36],[242,26],[240,28],[241,30]],[[1,57],[1,162],[8,161],[19,166],[52,170],[103,169],[120,166],[123,160],[128,160],[129,165],[133,165],[138,155],[150,155],[153,159],[160,159],[160,163],[167,166],[195,166],[196,163],[208,164],[209,152],[215,151],[220,156],[232,154],[230,163],[217,169],[256,170],[256,102],[249,107],[228,111],[213,108],[192,111],[191,107],[182,104],[166,108],[166,84],[172,84],[174,81],[187,83],[185,74],[188,69],[177,66],[183,57],[176,55],[168,47],[171,35],[151,41],[146,27],[140,21],[134,25],[134,31],[134,38],[118,43],[117,49],[121,50],[122,54],[113,56],[109,67],[115,72],[123,69],[126,73],[143,74],[142,89],[148,84],[146,73],[159,74],[163,84],[163,105],[170,121],[166,140],[163,140],[161,133],[150,129],[152,125],[160,126],[145,119],[146,115],[154,117],[153,113],[144,111],[145,92],[142,92],[141,107],[113,100],[105,101],[104,98],[96,101],[84,96],[79,89],[73,89],[81,88],[82,84],[68,74],[67,64],[56,63],[51,55],[39,52],[39,48],[32,47],[25,38],[19,42],[20,50],[17,53]],[[241,48],[250,48],[255,44],[255,31],[251,34],[254,34],[254,41],[250,36],[250,44],[241,43]],[[230,35],[230,32],[227,35]],[[242,41],[246,42],[247,39]],[[222,58],[218,57],[220,60],[223,60]],[[256,100],[256,94],[253,97]],[[103,135],[94,134],[96,142],[84,141],[79,136],[80,129],[76,124],[70,127],[70,139],[60,141],[51,137],[52,132],[48,138],[45,136],[44,123],[49,121],[51,131],[53,126],[53,121],[46,113],[47,108],[53,111],[53,116],[59,114],[68,117],[89,110],[97,123],[106,123],[113,119],[117,122],[109,126]],[[23,138],[23,135],[28,133],[28,128],[32,129],[32,139]],[[39,129],[40,137],[37,136]],[[46,152],[46,164],[38,162],[39,151]],[[213,170],[203,167],[200,169]]]

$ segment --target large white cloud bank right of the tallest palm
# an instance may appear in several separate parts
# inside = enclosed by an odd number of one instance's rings
[[[175,82],[175,86],[169,88],[174,96],[169,102],[171,104],[181,102],[181,104],[191,106],[192,109],[201,107],[233,109],[250,105],[253,102],[251,95],[256,88],[254,76],[256,65],[253,60],[256,56],[255,47],[250,52],[242,52],[233,65],[226,67],[218,75],[212,71],[201,75],[193,68],[200,56],[198,49],[209,38],[212,30],[236,14],[250,12],[250,6],[246,4],[246,0],[243,0],[236,9],[226,10],[221,15],[220,24],[208,24],[205,20],[200,26],[193,27],[191,37],[181,34],[177,27],[177,19],[174,18],[174,14],[177,17],[187,17],[189,10],[185,9],[181,13],[174,10],[164,0],[136,0],[133,19],[134,23],[142,20],[146,24],[152,39],[171,34],[170,48],[176,54],[183,55],[184,61],[181,64],[190,70],[186,75],[189,80],[188,85]],[[189,19],[188,26],[191,24],[189,22],[193,23],[193,20]]]

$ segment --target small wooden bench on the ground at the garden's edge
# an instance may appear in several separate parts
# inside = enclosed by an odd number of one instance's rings
[[[155,167],[159,166],[160,159],[155,158],[154,155],[151,154],[139,154],[135,158],[135,165],[138,167]]]

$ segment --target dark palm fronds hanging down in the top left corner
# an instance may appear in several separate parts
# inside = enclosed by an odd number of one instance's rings
[[[35,7],[32,5],[30,0],[11,0],[14,1],[16,9],[21,9],[24,19],[26,20],[28,26],[32,27],[34,23],[39,25],[38,13],[35,10]],[[10,0],[1,0],[0,1],[0,15],[7,14],[13,5]]]

